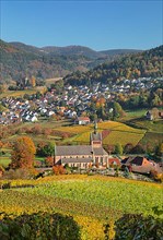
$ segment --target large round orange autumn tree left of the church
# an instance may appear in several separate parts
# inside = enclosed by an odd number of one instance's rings
[[[11,168],[33,168],[35,145],[28,136],[19,137],[13,144]]]

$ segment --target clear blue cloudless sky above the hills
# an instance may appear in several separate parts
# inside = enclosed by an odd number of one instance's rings
[[[150,49],[163,44],[162,0],[0,0],[0,38],[44,47]]]

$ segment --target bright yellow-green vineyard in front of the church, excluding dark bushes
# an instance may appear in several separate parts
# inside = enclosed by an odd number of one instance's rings
[[[149,182],[86,176],[53,176],[38,180],[1,180],[10,185],[0,192],[1,218],[34,213],[72,216],[82,240],[105,239],[104,226],[124,214],[156,217],[153,207],[162,207],[162,187]]]

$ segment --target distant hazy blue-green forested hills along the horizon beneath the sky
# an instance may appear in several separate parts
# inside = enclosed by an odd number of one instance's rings
[[[73,71],[85,72],[121,55],[139,50],[119,49],[94,51],[83,46],[37,48],[22,43],[0,40],[0,83],[21,81],[24,76],[36,79],[65,76]]]

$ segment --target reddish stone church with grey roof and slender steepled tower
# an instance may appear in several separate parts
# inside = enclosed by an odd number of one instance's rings
[[[55,147],[55,165],[68,165],[81,169],[96,166],[108,167],[108,154],[102,145],[102,133],[97,132],[97,124],[94,132],[90,134],[90,145],[72,145]]]

